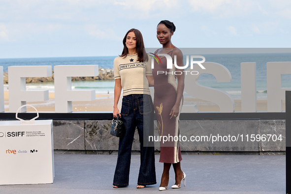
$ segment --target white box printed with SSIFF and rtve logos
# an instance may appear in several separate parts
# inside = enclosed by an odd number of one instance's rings
[[[0,122],[0,185],[53,183],[53,120]]]

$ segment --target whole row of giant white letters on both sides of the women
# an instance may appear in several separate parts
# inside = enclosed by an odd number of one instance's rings
[[[165,55],[165,54],[164,54]],[[167,57],[167,56],[166,56]],[[229,70],[221,64],[213,62],[194,62],[191,56],[191,66],[185,72],[185,92],[195,98],[216,103],[220,112],[234,112],[234,100],[225,91],[202,86],[197,81],[202,73],[210,73],[217,82],[231,82]],[[201,56],[198,56],[201,57]],[[187,56],[188,58],[188,56]],[[172,61],[170,66],[172,67]],[[196,63],[196,64],[194,64]],[[152,64],[153,65],[153,64]],[[167,64],[168,65],[168,64]],[[176,69],[186,69],[178,67]],[[187,66],[189,61],[187,62]],[[204,67],[204,68],[202,68]],[[267,67],[267,111],[282,112],[282,101],[285,100],[285,91],[291,88],[282,88],[282,74],[291,74],[291,62],[268,62]],[[55,67],[55,112],[72,112],[72,101],[95,100],[95,90],[76,91],[71,89],[71,77],[97,76],[98,65],[56,65]],[[199,69],[192,73],[191,69]],[[191,72],[191,73],[187,73]],[[48,100],[48,90],[27,91],[26,77],[48,77],[52,75],[51,66],[9,66],[9,112],[26,104],[27,101]],[[3,67],[0,66],[0,112],[4,111],[3,94]],[[153,90],[151,89],[153,94]],[[242,112],[257,112],[256,63],[241,63],[241,109]],[[21,112],[25,112],[23,108]],[[184,105],[182,112],[199,112],[196,105]]]

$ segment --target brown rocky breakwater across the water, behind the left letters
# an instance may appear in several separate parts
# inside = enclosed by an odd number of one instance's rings
[[[8,72],[3,73],[4,84],[8,84]],[[72,81],[79,81],[79,80],[87,80],[87,81],[94,81],[94,80],[112,80],[114,79],[114,72],[113,68],[102,68],[99,67],[99,75],[94,77],[72,77]],[[27,77],[26,83],[36,83],[36,82],[53,82],[54,81],[54,70],[52,70],[51,77]]]

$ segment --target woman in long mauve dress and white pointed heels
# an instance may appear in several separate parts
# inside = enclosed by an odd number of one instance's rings
[[[184,91],[184,73],[183,69],[176,69],[174,66],[174,56],[176,56],[176,64],[184,66],[183,54],[181,50],[175,47],[171,42],[171,36],[175,32],[176,27],[172,22],[163,20],[157,27],[157,38],[162,44],[162,48],[155,52],[155,55],[160,58],[154,63],[154,107],[157,116],[157,123],[159,127],[161,139],[161,155],[160,162],[163,162],[163,173],[161,185],[159,190],[167,190],[169,182],[169,170],[173,164],[175,171],[175,185],[172,188],[177,189],[181,187],[186,174],[181,170],[181,151],[179,141],[177,138],[180,135],[179,130],[179,116],[183,104]],[[171,60],[167,60],[166,56],[159,54],[167,54]],[[167,68],[167,61],[172,63],[173,68]],[[179,71],[179,72],[178,72]],[[180,73],[181,72],[181,73]],[[177,83],[176,83],[177,80]],[[166,137],[166,142],[163,142]],[[175,138],[174,138],[175,137]]]

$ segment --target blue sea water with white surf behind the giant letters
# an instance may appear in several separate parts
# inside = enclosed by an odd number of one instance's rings
[[[267,62],[290,62],[290,53],[276,54],[208,54],[203,55],[205,62],[215,62],[226,66],[232,81],[217,83],[211,74],[201,74],[198,77],[199,84],[226,91],[234,99],[241,97],[240,63],[256,62],[257,65],[257,98],[267,98]],[[7,71],[8,66],[15,65],[99,65],[103,68],[113,68],[113,60],[116,56],[109,57],[64,57],[64,58],[26,58],[26,59],[0,59],[0,66]],[[184,56],[186,63],[186,56]],[[114,93],[114,80],[72,81],[72,90],[96,90],[96,94],[110,96]],[[187,83],[186,83],[187,84]],[[27,90],[49,90],[54,92],[53,82],[28,83]],[[7,89],[8,85],[4,85]],[[282,88],[291,88],[291,74],[282,75]],[[190,97],[184,93],[184,97]]]

